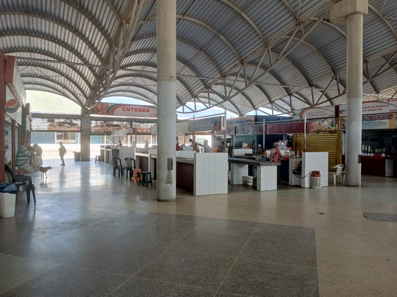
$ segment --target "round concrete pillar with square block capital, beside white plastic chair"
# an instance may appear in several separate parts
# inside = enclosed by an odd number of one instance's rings
[[[362,130],[362,30],[368,13],[368,0],[341,0],[331,6],[331,22],[347,20],[347,109],[346,177],[347,186],[361,186]]]

